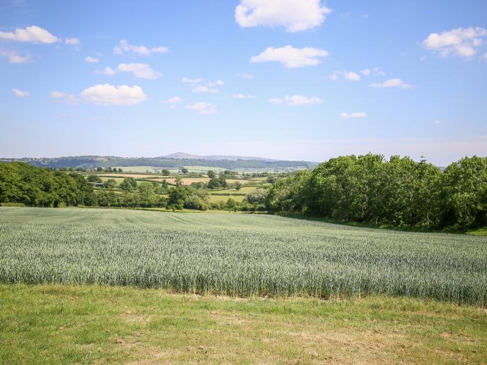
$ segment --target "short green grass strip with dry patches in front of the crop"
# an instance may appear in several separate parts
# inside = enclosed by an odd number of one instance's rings
[[[485,364],[487,313],[410,298],[0,285],[0,364]]]

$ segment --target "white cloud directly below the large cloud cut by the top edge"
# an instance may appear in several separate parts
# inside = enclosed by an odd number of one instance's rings
[[[319,57],[329,56],[324,49],[305,47],[294,48],[290,45],[280,48],[268,47],[258,56],[250,58],[251,63],[280,62],[286,67],[314,66],[320,63]]]

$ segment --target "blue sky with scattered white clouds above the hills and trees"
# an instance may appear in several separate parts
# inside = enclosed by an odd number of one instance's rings
[[[487,155],[487,1],[0,1],[0,156]]]

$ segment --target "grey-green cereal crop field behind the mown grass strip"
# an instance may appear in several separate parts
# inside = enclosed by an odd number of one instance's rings
[[[487,238],[279,216],[0,207],[0,282],[487,305]]]

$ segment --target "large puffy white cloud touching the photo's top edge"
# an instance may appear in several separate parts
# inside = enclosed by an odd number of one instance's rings
[[[285,26],[289,32],[320,26],[332,10],[320,0],[241,0],[235,8],[240,26]]]

